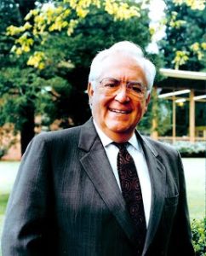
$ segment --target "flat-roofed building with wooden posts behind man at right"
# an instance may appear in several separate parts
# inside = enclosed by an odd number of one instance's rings
[[[160,73],[165,79],[154,90],[157,90],[158,98],[172,102],[172,132],[170,136],[159,137],[157,131],[153,131],[152,137],[173,143],[178,140],[205,141],[206,73],[165,68],[161,68]],[[154,128],[155,125],[154,120]]]

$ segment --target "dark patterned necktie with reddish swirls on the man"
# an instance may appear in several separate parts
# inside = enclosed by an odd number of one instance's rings
[[[146,218],[140,189],[140,180],[137,175],[134,160],[126,148],[127,143],[114,144],[119,148],[117,154],[117,170],[123,198],[136,230],[136,256],[139,256],[143,251],[146,239]]]

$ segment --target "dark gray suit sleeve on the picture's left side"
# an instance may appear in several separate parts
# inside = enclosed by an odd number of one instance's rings
[[[49,255],[45,240],[47,233],[53,232],[49,218],[52,200],[49,168],[49,150],[40,135],[26,149],[9,196],[2,236],[3,256]]]

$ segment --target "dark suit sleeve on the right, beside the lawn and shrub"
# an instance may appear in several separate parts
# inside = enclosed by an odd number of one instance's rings
[[[178,173],[179,173],[179,204],[175,215],[171,239],[169,241],[169,256],[195,255],[192,247],[192,232],[190,226],[190,218],[186,200],[186,181],[184,170],[178,154]]]

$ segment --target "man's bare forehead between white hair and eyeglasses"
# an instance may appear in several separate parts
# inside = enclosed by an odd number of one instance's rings
[[[146,83],[145,72],[140,64],[134,58],[121,54],[110,55],[101,62],[100,79],[108,77]]]

